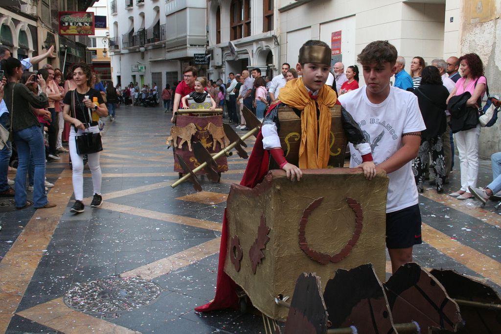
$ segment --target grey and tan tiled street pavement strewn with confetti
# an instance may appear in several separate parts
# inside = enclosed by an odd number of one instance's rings
[[[71,170],[65,157],[48,165],[47,175],[56,182],[49,198],[59,204],[56,208],[0,214],[0,332],[263,331],[254,315],[193,311],[213,298],[225,200],[246,161],[229,157],[230,170],[221,183],[203,180],[203,192],[189,183],[172,189],[177,173],[165,146],[169,118],[161,109],[118,109],[104,136],[100,208],[69,212]],[[252,140],[247,143],[250,152]],[[92,183],[85,173],[88,205]],[[480,185],[488,183],[489,174],[488,162],[482,162]],[[455,190],[458,177],[452,174],[447,190]],[[479,208],[472,200],[461,203],[431,188],[420,204],[425,243],[415,247],[415,260],[429,268],[453,268],[501,291],[501,216],[493,205]],[[152,280],[162,287],[161,296],[113,319],[63,303],[62,295],[75,283],[109,275]]]

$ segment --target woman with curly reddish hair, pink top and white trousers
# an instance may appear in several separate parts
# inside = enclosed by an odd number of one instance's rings
[[[470,112],[474,112],[480,107],[487,84],[487,80],[483,76],[483,63],[477,54],[467,54],[459,58],[459,71],[462,72],[462,78],[456,82],[456,87],[447,98],[447,103],[451,97],[469,92],[471,97],[466,101],[466,107],[471,109]],[[468,187],[476,188],[480,124],[478,124],[478,116],[475,117],[477,120],[475,127],[454,134],[457,151],[459,152],[461,189],[449,194],[449,196],[457,199],[473,197]]]

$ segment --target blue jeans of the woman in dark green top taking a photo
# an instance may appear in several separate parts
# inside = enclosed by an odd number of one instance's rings
[[[14,132],[14,142],[18,149],[19,164],[16,172],[16,207],[26,204],[26,174],[30,162],[30,153],[33,153],[35,177],[33,183],[33,204],[40,208],[47,204],[45,194],[45,147],[42,131],[37,125]]]

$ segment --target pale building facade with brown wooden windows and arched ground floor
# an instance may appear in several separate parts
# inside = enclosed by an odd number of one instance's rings
[[[242,70],[261,69],[263,76],[280,72],[282,46],[277,0],[208,0],[208,48],[211,79]]]

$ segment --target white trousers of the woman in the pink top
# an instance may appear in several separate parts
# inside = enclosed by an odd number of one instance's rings
[[[468,186],[476,188],[478,177],[478,137],[480,125],[454,134],[461,168],[461,190],[469,192]]]

